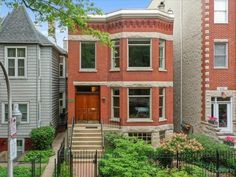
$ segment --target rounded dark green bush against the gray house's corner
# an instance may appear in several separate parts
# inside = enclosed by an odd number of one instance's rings
[[[50,126],[32,129],[31,139],[35,150],[47,150],[51,148],[55,136],[54,128]]]

